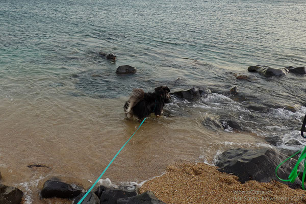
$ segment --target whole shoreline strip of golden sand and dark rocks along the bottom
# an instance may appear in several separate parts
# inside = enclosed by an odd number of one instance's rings
[[[275,176],[276,166],[286,158],[287,155],[271,148],[229,149],[219,155],[216,166],[175,164],[140,189],[136,185],[100,185],[82,203],[306,203],[299,178],[291,184]],[[286,179],[295,163],[295,159],[285,163],[278,176]],[[52,179],[44,182],[40,197],[47,203],[62,198],[63,202],[57,203],[77,204],[85,193],[83,187]],[[0,184],[0,203],[24,203],[22,196],[21,190]]]

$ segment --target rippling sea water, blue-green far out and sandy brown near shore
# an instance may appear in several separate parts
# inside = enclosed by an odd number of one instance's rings
[[[27,204],[50,202],[38,194],[52,177],[88,188],[139,125],[123,113],[134,88],[212,94],[173,97],[149,118],[103,177],[113,183],[140,183],[174,162],[214,164],[229,148],[303,147],[306,76],[247,67],[305,66],[305,10],[303,0],[1,0],[0,182]],[[136,74],[115,74],[126,64]]]

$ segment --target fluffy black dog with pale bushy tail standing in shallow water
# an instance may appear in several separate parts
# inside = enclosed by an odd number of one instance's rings
[[[153,93],[145,93],[142,89],[134,89],[132,96],[125,102],[126,118],[141,120],[155,113],[158,117],[166,103],[170,102],[170,89],[166,86],[155,88]]]

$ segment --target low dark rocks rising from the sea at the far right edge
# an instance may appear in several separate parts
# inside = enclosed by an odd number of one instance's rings
[[[284,76],[287,73],[306,74],[305,66],[302,66],[302,67],[289,66],[283,69],[275,69],[275,68],[271,68],[268,66],[256,65],[256,66],[249,66],[247,70],[249,72],[258,72],[264,75],[265,77],[274,77],[274,76],[279,77],[279,76]],[[241,77],[241,79],[245,79],[245,77],[244,78]]]

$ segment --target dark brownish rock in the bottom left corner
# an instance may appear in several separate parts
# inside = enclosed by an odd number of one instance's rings
[[[15,187],[0,184],[0,203],[1,204],[19,204],[23,192]]]

